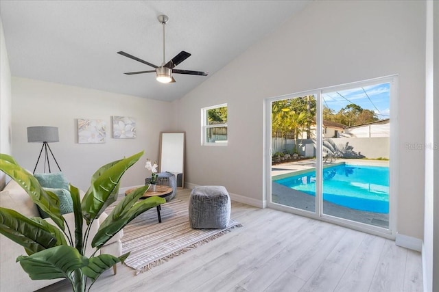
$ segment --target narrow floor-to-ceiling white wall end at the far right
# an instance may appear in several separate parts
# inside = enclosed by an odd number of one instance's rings
[[[439,5],[427,2],[424,290],[439,290]],[[436,97],[436,98],[435,98]],[[436,114],[436,116],[435,116]],[[436,146],[436,147],[435,147]]]

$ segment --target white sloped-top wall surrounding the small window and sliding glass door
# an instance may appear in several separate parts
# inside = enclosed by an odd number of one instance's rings
[[[425,141],[424,1],[313,1],[189,92],[176,104],[187,133],[186,181],[224,185],[262,205],[264,98],[394,74],[399,104],[392,110],[401,117],[397,228],[422,239],[424,152],[405,145]],[[222,103],[228,146],[202,147],[200,109]]]

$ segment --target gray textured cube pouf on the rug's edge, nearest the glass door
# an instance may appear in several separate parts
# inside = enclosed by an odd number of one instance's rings
[[[230,196],[225,187],[194,187],[189,198],[189,222],[192,228],[226,228],[230,222]]]

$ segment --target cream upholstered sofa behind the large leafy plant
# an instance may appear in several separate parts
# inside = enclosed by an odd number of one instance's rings
[[[81,198],[84,196],[84,191],[80,191]],[[40,217],[40,213],[36,207],[36,204],[32,202],[32,199],[26,193],[26,191],[15,181],[10,181],[5,188],[0,191],[0,207],[13,209],[26,217]],[[75,217],[73,213],[67,213],[63,215],[70,230],[75,230]],[[102,213],[99,220],[93,222],[91,227],[91,234],[88,237],[88,245],[86,247],[86,255],[93,254],[94,249],[91,248],[91,239],[97,233],[100,222],[108,215]],[[50,218],[45,219],[51,224],[55,225]],[[85,224],[85,223],[84,223]],[[84,228],[85,229],[85,228]],[[66,228],[67,230],[67,228]],[[97,254],[112,254],[114,256],[120,256],[122,252],[121,238],[123,237],[123,230],[117,235],[112,237],[106,245],[97,252]],[[46,287],[50,284],[54,284],[63,278],[54,280],[31,280],[29,275],[23,271],[21,265],[16,263],[16,258],[19,255],[27,255],[24,248],[8,239],[7,237],[0,235],[0,291],[14,291],[25,292],[35,291]],[[114,273],[116,273],[115,267],[113,267]]]

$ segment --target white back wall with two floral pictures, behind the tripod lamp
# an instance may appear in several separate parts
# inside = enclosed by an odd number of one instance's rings
[[[58,127],[60,142],[49,146],[71,183],[86,190],[91,175],[100,166],[141,150],[145,155],[126,172],[121,187],[143,185],[150,173],[147,158],[158,161],[159,134],[173,131],[171,103],[113,94],[86,88],[12,77],[12,155],[29,170],[34,170],[42,144],[27,143],[27,127]],[[135,139],[113,139],[111,116],[134,117]],[[102,119],[106,122],[105,144],[78,144],[78,118]],[[38,163],[38,171],[40,165]],[[52,171],[58,170],[51,161]]]

